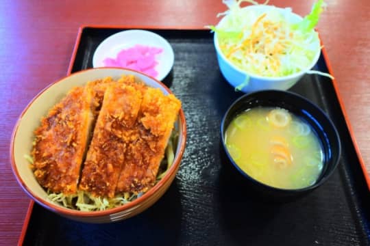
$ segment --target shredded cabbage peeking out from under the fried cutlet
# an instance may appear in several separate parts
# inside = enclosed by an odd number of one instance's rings
[[[166,156],[160,163],[160,169],[158,170],[156,182],[163,178],[163,176],[167,173],[167,170],[169,169],[169,167],[171,167],[173,163],[173,160],[175,158],[174,150],[176,150],[177,148],[177,137],[178,133],[176,131],[173,131],[165,150]],[[27,161],[29,161],[29,163],[34,163],[34,159],[32,158],[32,156],[29,156],[29,154],[25,154],[24,157]],[[63,193],[53,193],[50,190],[47,190],[47,194],[51,201],[58,202],[66,208],[88,212],[106,210],[109,208],[115,208],[117,206],[127,204],[142,196],[144,193],[125,192],[122,194],[118,194],[113,198],[94,197],[93,195],[90,195],[90,193],[85,191],[77,191],[77,194],[73,195],[64,195]]]

